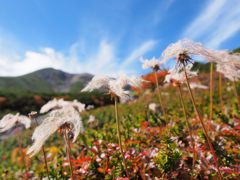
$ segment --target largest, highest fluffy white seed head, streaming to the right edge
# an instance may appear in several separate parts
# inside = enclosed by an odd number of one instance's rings
[[[183,39],[170,44],[162,53],[161,62],[166,63],[171,58],[177,58],[180,53],[187,52],[190,55],[203,57],[208,62],[217,63],[217,71],[222,73],[230,81],[240,79],[240,55],[230,54],[226,50],[218,51],[204,47],[200,43]]]

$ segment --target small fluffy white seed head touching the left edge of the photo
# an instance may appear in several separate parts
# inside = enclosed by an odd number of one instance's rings
[[[16,115],[7,114],[0,121],[0,133],[3,133],[17,124],[23,124],[26,129],[30,128],[31,120],[27,116],[20,115],[17,113]]]

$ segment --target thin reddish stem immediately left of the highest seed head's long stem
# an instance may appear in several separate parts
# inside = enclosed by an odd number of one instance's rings
[[[181,88],[180,85],[178,86],[178,91],[179,91],[180,101],[181,101],[181,104],[182,104],[182,109],[183,109],[183,112],[184,112],[185,121],[187,123],[188,132],[189,132],[189,135],[190,135],[190,138],[191,138],[191,143],[192,143],[192,148],[193,148],[193,165],[192,165],[192,169],[194,169],[197,153],[196,153],[196,149],[195,149],[195,143],[194,143],[194,139],[193,139],[192,128],[191,128],[190,122],[189,122],[189,120],[187,118],[187,111],[186,111],[186,107],[185,107],[185,104],[184,104],[184,101],[183,101],[182,88]]]

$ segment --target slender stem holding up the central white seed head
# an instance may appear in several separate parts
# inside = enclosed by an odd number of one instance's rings
[[[125,168],[125,172],[127,174],[128,179],[130,179],[129,173],[128,173],[128,169],[127,169],[127,162],[126,159],[124,157],[124,152],[123,152],[123,146],[122,146],[122,138],[121,138],[121,131],[120,131],[120,122],[119,122],[119,117],[118,117],[118,102],[117,102],[117,97],[114,98],[115,101],[115,116],[116,116],[116,124],[117,124],[117,136],[118,136],[118,144],[120,147],[120,151],[121,151],[121,155],[123,158],[123,165]]]

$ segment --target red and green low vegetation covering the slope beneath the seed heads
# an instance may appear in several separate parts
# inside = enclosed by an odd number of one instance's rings
[[[204,75],[204,74],[203,74]],[[206,77],[208,78],[208,77]],[[216,82],[216,81],[215,81]],[[215,83],[216,84],[216,83]],[[232,91],[228,91],[228,84],[224,82],[224,105],[227,114],[219,109],[218,88],[214,88],[214,120],[209,121],[208,90],[195,90],[197,105],[204,114],[204,121],[209,125],[214,149],[219,157],[219,164],[223,176],[230,179],[239,178],[239,126],[240,114]],[[183,87],[185,89],[186,87]],[[240,86],[238,86],[239,90]],[[213,167],[213,159],[206,144],[200,122],[195,119],[193,107],[186,91],[184,101],[187,115],[193,128],[193,135],[198,152],[196,168],[192,170],[192,148],[189,134],[181,109],[176,89],[165,87],[162,89],[164,103],[169,119],[166,121],[160,111],[148,109],[152,102],[157,103],[154,92],[140,91],[139,99],[129,104],[119,106],[123,144],[127,166],[131,177],[144,179],[147,177],[165,177],[166,179],[196,179],[217,178]],[[178,111],[176,111],[178,109]],[[88,123],[89,115],[96,120]],[[80,135],[72,147],[72,161],[77,179],[115,179],[126,176],[121,163],[121,155],[116,137],[114,106],[109,105],[82,115],[85,133]],[[34,128],[21,134],[23,154],[31,144],[31,134]],[[47,177],[44,169],[44,159],[39,153],[33,159],[24,155],[24,162],[18,157],[18,138],[12,137],[0,143],[2,177],[24,178]],[[62,134],[53,135],[45,145],[50,177],[67,179],[67,168],[64,141]]]

